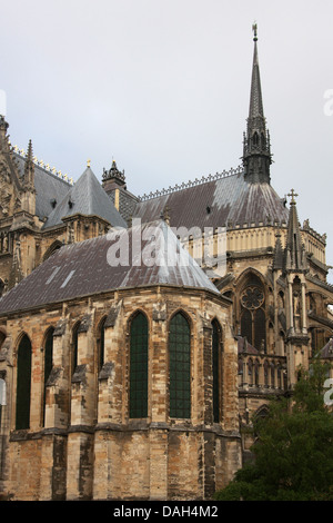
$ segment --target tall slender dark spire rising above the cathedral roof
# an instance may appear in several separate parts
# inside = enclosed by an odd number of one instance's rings
[[[244,177],[249,182],[270,184],[270,165],[272,164],[270,134],[263,111],[260,69],[258,59],[258,27],[253,24],[253,66],[250,93],[248,129],[244,134],[243,166]]]

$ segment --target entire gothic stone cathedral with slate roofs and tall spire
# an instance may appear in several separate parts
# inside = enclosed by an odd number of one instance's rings
[[[271,185],[256,40],[231,171],[73,182],[0,117],[1,500],[210,500],[253,416],[332,361],[326,237]]]

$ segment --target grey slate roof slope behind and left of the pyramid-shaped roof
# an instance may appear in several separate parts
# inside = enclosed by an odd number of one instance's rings
[[[26,159],[14,155],[20,176],[23,176]],[[46,218],[53,210],[52,200],[61,201],[71,188],[65,180],[52,175],[47,169],[34,165],[36,214]]]

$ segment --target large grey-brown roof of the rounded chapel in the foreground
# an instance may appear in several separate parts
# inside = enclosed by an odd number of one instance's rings
[[[122,265],[117,265],[120,245],[124,255],[129,246],[129,263],[124,256]],[[154,255],[159,256],[159,263]],[[220,296],[171,228],[159,220],[130,229],[114,228],[105,236],[61,247],[0,299],[0,315],[152,285],[201,288]]]

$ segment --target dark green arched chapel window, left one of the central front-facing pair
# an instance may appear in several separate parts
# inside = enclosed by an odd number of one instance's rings
[[[130,417],[148,416],[148,319],[138,313],[130,326]]]

